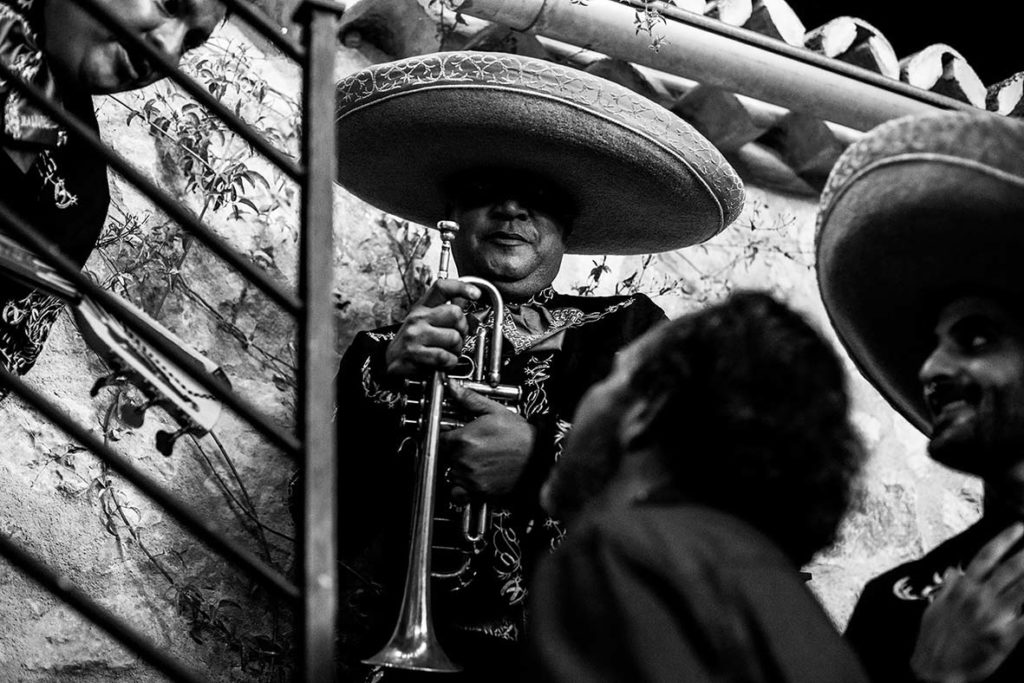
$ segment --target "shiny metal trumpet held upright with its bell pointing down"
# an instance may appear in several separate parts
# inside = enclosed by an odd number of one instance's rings
[[[437,223],[437,229],[441,233],[440,263],[437,267],[437,279],[440,280],[447,278],[452,240],[459,230],[459,225],[453,221],[442,220]],[[431,578],[456,579],[461,585],[472,579],[472,575],[467,578],[467,574],[471,574],[473,556],[483,543],[489,514],[485,503],[478,504],[475,512],[472,505],[463,508],[462,531],[464,541],[469,547],[468,550],[462,551],[465,559],[461,567],[455,571],[432,572],[431,550],[435,522],[438,436],[442,429],[460,427],[463,424],[457,418],[444,414],[445,384],[458,382],[496,400],[513,404],[519,400],[522,389],[518,386],[501,384],[502,324],[505,319],[505,305],[498,288],[479,278],[464,276],[459,280],[479,287],[490,297],[494,323],[490,328],[489,350],[486,348],[487,328],[478,326],[475,333],[472,372],[469,377],[450,378],[441,371],[434,371],[429,382],[407,382],[407,386],[411,388],[420,386],[425,389],[422,398],[407,398],[407,409],[415,411],[417,417],[407,417],[403,420],[407,426],[414,426],[420,431],[409,564],[394,633],[377,654],[365,659],[365,663],[370,665],[414,671],[462,671],[461,667],[449,658],[437,642],[430,611]]]

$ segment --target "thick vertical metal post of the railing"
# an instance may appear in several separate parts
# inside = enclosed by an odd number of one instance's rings
[[[338,615],[338,562],[335,547],[337,460],[334,430],[336,362],[334,304],[334,52],[343,7],[305,0],[308,61],[303,69],[303,159],[308,169],[302,187],[299,296],[305,303],[299,326],[299,424],[306,446],[302,467],[303,533],[299,547],[304,579],[302,680],[337,678],[334,658]]]

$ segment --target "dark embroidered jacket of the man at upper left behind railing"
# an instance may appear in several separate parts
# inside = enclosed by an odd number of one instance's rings
[[[87,128],[98,130],[91,97],[61,100],[56,91],[36,33],[39,4],[38,0],[0,0],[0,59]],[[2,79],[0,117],[0,203],[54,242],[70,259],[84,264],[106,218],[105,164],[75,136],[66,136]],[[9,150],[35,153],[27,171],[14,163]],[[0,230],[6,231],[2,221]],[[28,372],[62,307],[58,299],[0,274],[0,364],[19,375]]]

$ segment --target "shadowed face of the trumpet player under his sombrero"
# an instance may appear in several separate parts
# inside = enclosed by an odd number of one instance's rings
[[[567,217],[557,193],[540,181],[492,174],[464,182],[453,200],[459,232],[452,254],[460,275],[527,299],[551,285],[565,253]]]

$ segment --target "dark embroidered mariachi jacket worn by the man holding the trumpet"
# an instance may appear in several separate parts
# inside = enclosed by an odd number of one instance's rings
[[[502,383],[522,387],[520,411],[538,428],[537,445],[516,489],[490,503],[492,528],[476,575],[454,592],[435,582],[433,602],[440,631],[514,643],[521,637],[535,563],[562,536],[559,523],[541,509],[539,493],[577,403],[607,374],[620,348],[666,315],[643,295],[578,297],[551,289],[509,310]],[[489,315],[471,314],[485,321]],[[384,373],[384,353],[397,329],[359,333],[338,377],[339,548],[342,561],[364,574],[342,578],[351,583],[350,603],[341,606],[341,648],[349,659],[371,655],[387,641],[406,573],[416,438],[400,428],[402,386]],[[414,438],[407,446],[414,447],[399,450],[408,436]]]

